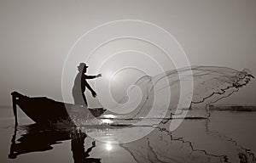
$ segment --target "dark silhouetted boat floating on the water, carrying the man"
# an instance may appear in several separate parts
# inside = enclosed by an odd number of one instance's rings
[[[71,121],[73,113],[81,117],[97,117],[106,110],[102,108],[87,109],[81,105],[66,104],[57,102],[46,97],[30,98],[20,93],[11,93],[13,97],[13,109],[15,114],[15,124],[17,125],[16,104],[23,110],[28,117],[38,124],[49,124],[57,121]]]

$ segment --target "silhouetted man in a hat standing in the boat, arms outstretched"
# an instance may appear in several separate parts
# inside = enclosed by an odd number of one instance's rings
[[[98,74],[96,76],[87,76],[85,75],[87,68],[88,66],[84,63],[80,63],[80,65],[78,66],[79,73],[75,78],[73,90],[72,90],[74,104],[88,106],[87,100],[84,95],[86,87],[90,90],[91,95],[94,98],[96,98],[96,95],[97,95],[96,92],[90,87],[86,79],[94,79],[96,77],[101,77],[102,74]]]

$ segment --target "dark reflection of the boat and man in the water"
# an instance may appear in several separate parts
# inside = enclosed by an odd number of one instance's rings
[[[71,139],[71,150],[74,162],[101,162],[100,158],[90,158],[90,151],[96,147],[93,142],[87,150],[84,149],[84,140],[87,135],[80,132],[76,127],[68,130],[55,130],[45,128],[37,124],[25,127],[27,132],[16,140],[17,126],[11,140],[9,159],[15,159],[18,155],[29,154],[32,152],[43,152],[53,149],[52,145]]]

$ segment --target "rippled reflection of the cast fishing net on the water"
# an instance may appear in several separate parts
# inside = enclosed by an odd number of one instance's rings
[[[243,149],[238,143],[230,142],[226,138],[218,140],[229,144],[233,150],[232,154],[215,154],[211,152],[211,147],[206,149],[197,149],[195,142],[183,137],[176,137],[163,128],[151,133],[154,137],[142,138],[133,143],[122,144],[125,150],[129,151],[137,163],[145,162],[255,162],[255,157],[249,149]],[[214,145],[198,135],[201,141],[208,146]],[[212,137],[212,136],[210,136]],[[213,137],[212,137],[213,138]],[[214,139],[214,138],[213,138]],[[209,142],[208,142],[209,141]],[[223,148],[224,144],[218,146]],[[209,151],[208,151],[209,149]]]

